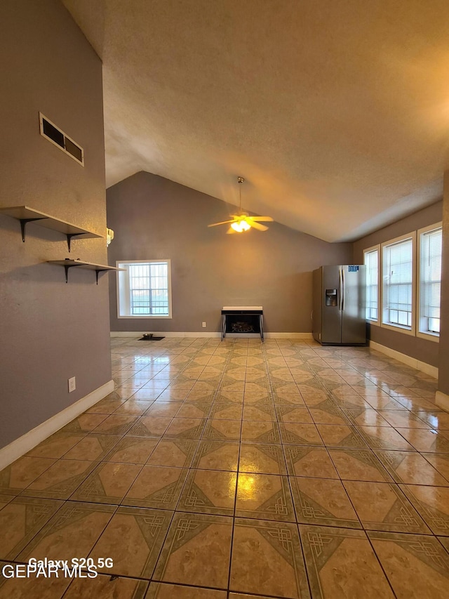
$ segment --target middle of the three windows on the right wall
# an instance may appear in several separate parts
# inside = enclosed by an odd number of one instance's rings
[[[382,244],[382,326],[415,334],[415,232]]]

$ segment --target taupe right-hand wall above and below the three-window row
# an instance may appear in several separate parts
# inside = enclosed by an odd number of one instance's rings
[[[442,202],[437,202],[432,206],[398,220],[388,227],[359,239],[354,243],[354,262],[360,261],[363,263],[363,249],[387,242],[389,239],[394,239],[400,235],[406,235],[422,227],[427,227],[427,225],[438,223],[441,220],[442,206]],[[390,329],[378,327],[375,324],[370,325],[370,338],[372,341],[385,345],[387,348],[438,367],[438,343],[435,341],[427,341],[427,339],[410,336],[399,331],[391,331]]]

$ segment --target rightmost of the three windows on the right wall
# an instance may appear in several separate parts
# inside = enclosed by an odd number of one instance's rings
[[[420,229],[420,299],[418,335],[438,340],[440,334],[441,223]],[[422,335],[420,335],[422,334]]]

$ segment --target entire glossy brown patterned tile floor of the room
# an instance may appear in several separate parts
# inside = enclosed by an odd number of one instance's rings
[[[112,340],[116,390],[0,472],[0,598],[449,596],[449,414],[367,348]],[[112,576],[111,576],[112,574]]]

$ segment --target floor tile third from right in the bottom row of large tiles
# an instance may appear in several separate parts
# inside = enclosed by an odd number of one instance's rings
[[[296,525],[236,518],[229,589],[239,593],[262,591],[291,599],[309,598]]]

